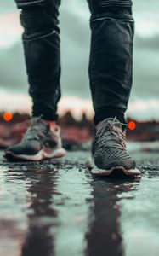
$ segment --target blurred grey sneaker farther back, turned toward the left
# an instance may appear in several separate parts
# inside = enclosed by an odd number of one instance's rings
[[[43,160],[65,155],[60,138],[60,128],[51,131],[50,126],[40,118],[31,119],[31,125],[21,142],[7,148],[7,159]]]

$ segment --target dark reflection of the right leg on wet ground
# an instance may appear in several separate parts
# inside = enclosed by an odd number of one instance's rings
[[[120,229],[122,193],[136,189],[136,181],[106,180],[95,178],[92,181],[94,207],[90,211],[90,224],[87,240],[87,256],[122,256],[124,247]],[[133,199],[133,196],[128,200]]]

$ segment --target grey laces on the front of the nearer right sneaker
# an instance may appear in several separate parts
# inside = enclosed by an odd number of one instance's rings
[[[99,148],[126,148],[125,135],[122,129],[121,131],[120,129],[114,129],[114,126],[119,124],[126,125],[118,121],[116,117],[113,120],[105,119],[99,124],[98,130],[96,132],[97,145]]]

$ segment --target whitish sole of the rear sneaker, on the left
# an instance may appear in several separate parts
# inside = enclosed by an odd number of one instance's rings
[[[43,149],[40,150],[37,154],[27,155],[27,154],[14,154],[13,152],[7,151],[5,157],[7,159],[20,159],[20,160],[29,160],[29,161],[39,161],[46,160],[51,158],[60,158],[65,156],[66,151],[64,148],[58,148],[54,150],[51,154],[48,154]]]

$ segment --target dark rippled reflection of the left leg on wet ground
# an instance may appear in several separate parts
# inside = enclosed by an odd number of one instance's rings
[[[28,177],[29,174],[29,177]],[[53,219],[57,212],[54,201],[56,175],[48,170],[25,172],[27,181],[28,230],[21,248],[21,256],[54,255]]]

